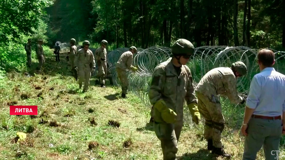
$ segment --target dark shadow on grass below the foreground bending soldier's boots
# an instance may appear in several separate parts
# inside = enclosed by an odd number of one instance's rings
[[[207,149],[200,149],[196,153],[185,153],[178,160],[216,160],[217,157],[207,151]]]

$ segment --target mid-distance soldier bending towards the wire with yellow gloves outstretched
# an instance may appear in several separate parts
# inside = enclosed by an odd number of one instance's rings
[[[126,69],[137,71],[137,67],[132,65],[133,62],[133,54],[137,53],[137,48],[135,46],[131,46],[129,51],[124,52],[119,58],[116,64],[116,71],[120,81],[122,82],[122,98],[126,98],[127,87],[128,87],[128,76]]]

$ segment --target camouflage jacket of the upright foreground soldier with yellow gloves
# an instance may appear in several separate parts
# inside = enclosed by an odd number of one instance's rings
[[[172,58],[169,58],[154,69],[149,90],[149,100],[153,105],[159,99],[163,99],[168,108],[176,112],[176,121],[181,122],[183,120],[184,99],[187,104],[190,104],[193,102],[197,103],[197,98],[194,93],[190,69],[186,65],[182,65],[180,75],[177,75],[171,60]],[[151,114],[152,117],[155,116],[154,112],[151,112]]]

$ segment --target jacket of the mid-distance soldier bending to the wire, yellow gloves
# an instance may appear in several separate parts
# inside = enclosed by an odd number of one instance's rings
[[[124,52],[121,57],[119,58],[116,68],[131,69],[133,62],[133,54],[131,51]]]

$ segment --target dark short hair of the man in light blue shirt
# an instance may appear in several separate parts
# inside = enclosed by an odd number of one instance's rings
[[[257,54],[257,60],[260,61],[264,66],[271,67],[274,63],[275,54],[268,49],[262,49]]]

